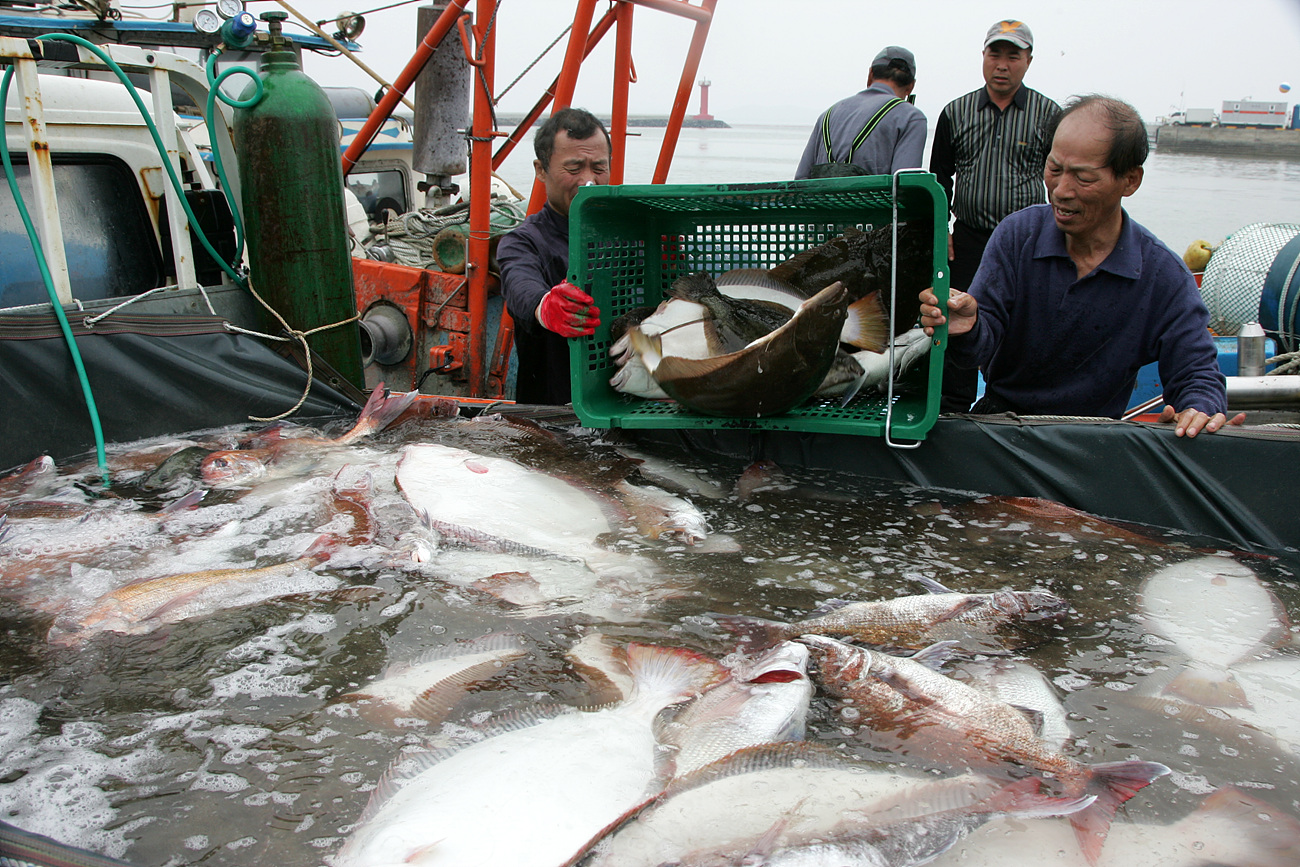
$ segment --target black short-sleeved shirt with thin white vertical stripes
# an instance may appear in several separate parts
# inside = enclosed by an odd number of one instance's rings
[[[983,87],[944,107],[930,170],[948,194],[953,216],[992,231],[1006,214],[1046,201],[1048,123],[1060,112],[1054,101],[1023,86],[1006,110]]]

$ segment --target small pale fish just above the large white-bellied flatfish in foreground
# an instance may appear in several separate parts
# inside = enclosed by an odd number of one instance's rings
[[[495,676],[524,653],[519,636],[507,633],[434,647],[410,662],[389,664],[338,701],[351,702],[365,720],[381,725],[395,725],[399,719],[438,724],[469,686]]]

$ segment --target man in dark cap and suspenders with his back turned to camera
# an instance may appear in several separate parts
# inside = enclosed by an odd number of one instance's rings
[[[841,99],[818,118],[796,179],[919,169],[926,116],[909,100],[915,86],[913,53],[898,45],[883,48],[871,61],[867,88]]]

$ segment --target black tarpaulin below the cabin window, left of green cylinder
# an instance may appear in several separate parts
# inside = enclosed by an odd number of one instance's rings
[[[105,442],[247,422],[292,407],[307,374],[214,316],[70,317]],[[0,316],[0,468],[95,447],[75,368],[53,313]],[[355,415],[320,381],[294,420]]]

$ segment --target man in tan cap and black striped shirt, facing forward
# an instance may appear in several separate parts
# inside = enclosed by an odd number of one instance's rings
[[[1032,61],[1030,29],[998,21],[984,36],[984,87],[949,103],[935,125],[930,170],[956,217],[948,237],[952,289],[970,289],[984,246],[1004,217],[1046,201],[1048,126],[1061,107],[1022,83]],[[944,364],[941,411],[966,412],[975,390],[975,370]]]

